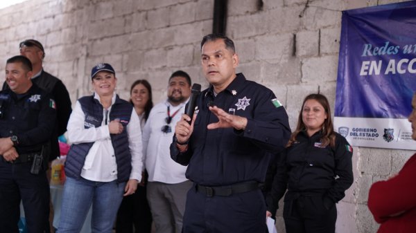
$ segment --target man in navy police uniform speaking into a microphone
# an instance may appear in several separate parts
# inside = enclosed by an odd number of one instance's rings
[[[182,232],[266,232],[259,185],[270,154],[291,135],[288,115],[270,89],[236,74],[231,39],[206,35],[201,52],[210,86],[197,97],[193,119],[184,114],[177,122],[171,144],[171,158],[188,165],[193,181]]]

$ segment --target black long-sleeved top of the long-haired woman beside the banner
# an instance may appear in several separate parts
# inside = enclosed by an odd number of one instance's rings
[[[299,196],[322,196],[326,207],[338,203],[353,183],[352,147],[335,133],[335,147],[321,147],[321,131],[311,138],[306,132],[297,134],[293,145],[279,154],[272,190],[266,198],[268,211],[275,213],[280,198],[284,201]]]

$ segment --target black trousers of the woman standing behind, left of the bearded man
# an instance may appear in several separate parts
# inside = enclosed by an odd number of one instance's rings
[[[150,233],[151,230],[152,213],[146,198],[146,186],[137,186],[135,194],[125,196],[121,202],[116,233]]]

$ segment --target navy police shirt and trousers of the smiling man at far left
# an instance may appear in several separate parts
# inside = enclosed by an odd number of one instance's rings
[[[10,89],[0,92],[0,138],[17,136],[15,148],[19,158],[7,162],[0,158],[0,229],[19,232],[19,204],[23,201],[28,232],[44,232],[49,218],[49,183],[45,166],[39,174],[31,174],[31,156],[40,153],[49,142],[55,126],[55,102],[35,84],[24,94]],[[24,159],[25,158],[25,159]],[[48,158],[44,158],[47,160]]]

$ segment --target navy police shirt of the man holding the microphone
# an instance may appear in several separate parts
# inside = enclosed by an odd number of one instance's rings
[[[208,124],[218,122],[208,109],[210,103],[247,118],[245,130],[208,130]],[[245,80],[241,73],[216,96],[212,86],[202,91],[195,114],[189,148],[180,153],[174,140],[171,157],[182,165],[189,164],[186,176],[199,185],[231,185],[248,180],[262,183],[270,156],[266,151],[276,153],[284,149],[291,134],[286,110],[275,94]]]

